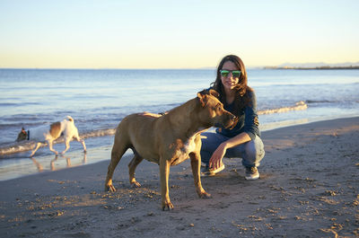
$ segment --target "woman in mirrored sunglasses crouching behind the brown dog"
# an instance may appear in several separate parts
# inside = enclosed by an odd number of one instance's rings
[[[217,68],[212,89],[220,94],[224,109],[239,118],[232,129],[217,128],[215,133],[202,136],[201,158],[206,163],[203,175],[211,176],[223,171],[223,157],[240,157],[246,168],[247,180],[257,180],[257,167],[264,157],[264,145],[258,129],[256,96],[247,84],[247,72],[240,57],[223,57]]]

